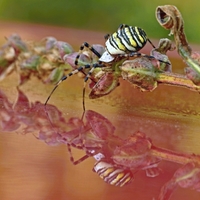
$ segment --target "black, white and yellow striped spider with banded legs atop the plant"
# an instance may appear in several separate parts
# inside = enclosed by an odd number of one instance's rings
[[[147,37],[146,33],[143,29],[139,27],[132,27],[125,24],[120,25],[118,30],[114,32],[112,35],[105,36],[105,52],[101,55],[94,47],[89,45],[87,42],[83,43],[80,47],[80,53],[77,55],[75,59],[75,65],[78,66],[79,64],[79,57],[81,52],[87,48],[90,50],[94,55],[96,55],[99,59],[96,63],[86,64],[84,66],[79,66],[74,71],[70,72],[68,75],[64,76],[54,87],[51,91],[50,95],[48,96],[45,106],[48,103],[51,95],[58,87],[58,85],[69,78],[70,76],[78,73],[79,71],[84,73],[85,69],[90,69],[89,72],[86,74],[84,79],[84,87],[83,87],[83,109],[85,110],[85,103],[84,103],[84,96],[85,96],[85,87],[87,80],[91,77],[93,71],[96,68],[103,68],[103,67],[112,67],[113,63],[119,63],[129,58],[136,58],[136,57],[147,57],[149,59],[154,59],[153,56],[149,56],[146,54],[139,53],[138,51],[142,49],[147,41],[155,48],[152,42]],[[164,62],[162,60],[158,60],[160,62]],[[167,62],[168,63],[168,62]]]

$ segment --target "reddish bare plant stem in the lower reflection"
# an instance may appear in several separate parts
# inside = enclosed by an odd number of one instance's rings
[[[195,154],[183,154],[168,149],[151,146],[151,155],[161,158],[165,161],[179,163],[185,165],[189,162],[194,162],[200,165],[200,156]]]

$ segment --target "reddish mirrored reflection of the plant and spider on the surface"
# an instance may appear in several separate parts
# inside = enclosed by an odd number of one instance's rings
[[[44,105],[38,101],[29,102],[19,89],[14,105],[3,92],[0,92],[0,103],[2,132],[16,131],[21,127],[24,134],[34,133],[37,139],[48,145],[65,144],[70,160],[75,165],[88,157],[94,157],[96,163],[93,171],[111,185],[127,185],[140,170],[144,170],[148,177],[156,177],[161,171],[160,162],[167,160],[183,166],[162,187],[158,199],[169,199],[177,186],[200,191],[198,155],[178,153],[155,146],[151,139],[141,132],[122,139],[115,135],[117,127],[92,110],[85,112],[83,120],[78,116],[66,121],[62,112],[55,106],[48,105],[48,118]],[[72,147],[81,149],[85,156],[74,160]]]

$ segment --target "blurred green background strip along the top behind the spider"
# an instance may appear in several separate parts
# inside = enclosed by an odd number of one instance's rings
[[[200,43],[200,1],[191,0],[0,0],[0,20],[51,24],[112,33],[119,24],[140,26],[151,38],[166,37],[155,19],[158,5],[179,8],[189,42]]]

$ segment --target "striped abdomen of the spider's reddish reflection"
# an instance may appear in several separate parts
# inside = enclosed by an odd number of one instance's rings
[[[131,183],[134,178],[131,170],[119,168],[102,160],[94,165],[93,171],[106,183],[114,186],[122,187]]]

